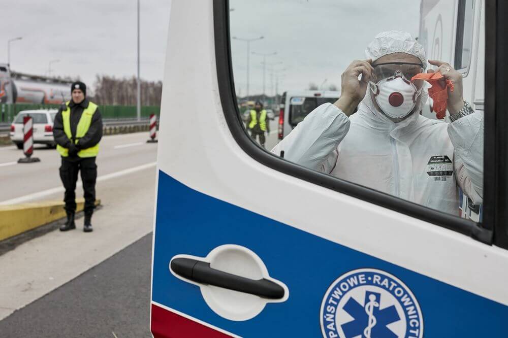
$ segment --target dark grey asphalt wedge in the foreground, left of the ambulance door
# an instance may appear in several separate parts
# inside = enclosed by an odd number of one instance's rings
[[[149,333],[152,235],[0,321],[0,336],[142,338]]]

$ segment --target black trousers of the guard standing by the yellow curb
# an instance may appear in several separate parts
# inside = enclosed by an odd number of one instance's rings
[[[63,201],[67,213],[76,212],[76,182],[78,172],[81,172],[81,181],[85,192],[85,215],[91,215],[95,209],[95,184],[97,181],[97,164],[95,157],[72,158],[62,157],[60,166],[60,179],[65,188]]]

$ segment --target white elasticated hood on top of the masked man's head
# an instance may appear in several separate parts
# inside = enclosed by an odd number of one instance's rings
[[[372,59],[372,62],[382,56],[393,53],[414,55],[422,61],[424,68],[427,67],[427,57],[425,56],[423,46],[405,31],[390,30],[380,32],[365,49],[365,56],[368,59]]]

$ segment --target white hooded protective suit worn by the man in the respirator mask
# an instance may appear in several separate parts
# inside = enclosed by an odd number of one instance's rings
[[[383,32],[366,50],[373,61],[405,52],[426,64],[408,33]],[[419,107],[426,103],[427,90]],[[458,186],[476,204],[483,198],[483,112],[455,122],[431,120],[421,109],[401,122],[378,112],[370,91],[349,118],[336,106],[312,111],[273,153],[312,170],[458,215]]]

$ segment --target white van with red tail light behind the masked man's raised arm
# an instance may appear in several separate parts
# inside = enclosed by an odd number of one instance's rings
[[[339,91],[331,90],[285,91],[280,100],[278,139],[285,138],[316,107],[333,104],[339,96]]]

